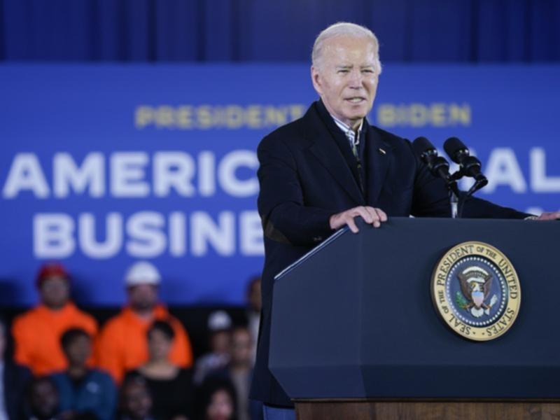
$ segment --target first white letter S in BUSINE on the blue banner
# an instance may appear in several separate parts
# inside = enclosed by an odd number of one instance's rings
[[[165,252],[167,239],[162,229],[165,220],[155,211],[135,213],[127,221],[127,252],[136,258],[153,258]]]

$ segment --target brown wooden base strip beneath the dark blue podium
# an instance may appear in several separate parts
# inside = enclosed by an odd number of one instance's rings
[[[295,401],[297,420],[558,420],[560,402]]]

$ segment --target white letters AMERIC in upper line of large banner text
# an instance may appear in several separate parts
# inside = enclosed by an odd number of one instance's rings
[[[181,197],[197,194],[211,197],[216,194],[216,182],[232,197],[251,197],[258,193],[255,176],[258,159],[254,151],[231,151],[217,165],[216,155],[211,151],[200,152],[196,160],[193,155],[181,151],[157,151],[152,157],[151,180],[148,176],[151,156],[148,153],[115,152],[107,158],[109,165],[102,153],[92,152],[78,166],[69,153],[55,153],[52,158],[52,196],[58,199],[70,195],[144,198],[151,192],[153,197],[167,197],[174,191]],[[109,173],[106,173],[106,166]],[[246,179],[238,178],[237,171],[241,168],[248,169]],[[48,182],[34,153],[15,155],[3,186],[3,198],[14,199],[23,191],[29,191],[37,198],[50,197]]]

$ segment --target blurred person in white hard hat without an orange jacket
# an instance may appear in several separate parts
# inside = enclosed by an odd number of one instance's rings
[[[221,369],[230,361],[232,319],[226,311],[215,311],[208,317],[210,351],[197,359],[195,384],[202,384],[209,372]]]

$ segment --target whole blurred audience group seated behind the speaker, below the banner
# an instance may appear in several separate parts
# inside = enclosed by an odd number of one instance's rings
[[[97,322],[71,302],[64,266],[43,265],[36,279],[41,302],[12,327],[15,360],[35,378],[4,360],[7,331],[0,319],[0,420],[262,419],[262,407],[248,400],[260,277],[248,283],[247,327],[232,328],[226,311],[210,314],[209,352],[197,360],[194,375],[187,332],[158,301],[161,281],[151,263],[134,263],[125,274],[128,302],[96,339]],[[94,344],[100,370],[92,367]]]

